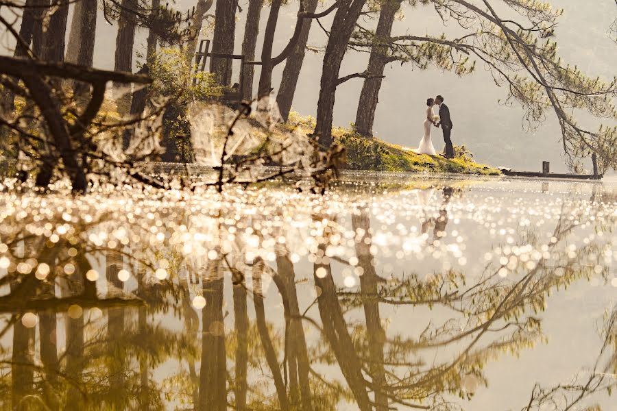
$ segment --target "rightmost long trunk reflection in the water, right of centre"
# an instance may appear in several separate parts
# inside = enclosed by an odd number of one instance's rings
[[[378,302],[378,282],[380,277],[375,271],[373,255],[370,244],[365,239],[371,239],[370,216],[365,210],[358,216],[352,215],[352,227],[354,232],[362,229],[365,232],[364,238],[356,241],[356,256],[358,266],[363,269],[360,276],[360,291],[362,305],[364,306],[364,316],[366,319],[366,336],[369,345],[370,364],[369,370],[375,392],[376,411],[388,410],[388,397],[386,393],[386,377],[384,369],[383,347],[385,344],[385,331],[381,326],[381,316],[379,313]]]

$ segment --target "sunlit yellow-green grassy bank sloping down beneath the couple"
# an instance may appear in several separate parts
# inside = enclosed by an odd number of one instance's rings
[[[291,127],[313,131],[315,120],[292,113],[289,117]],[[346,149],[346,166],[352,170],[374,171],[415,171],[429,173],[459,173],[500,175],[500,171],[474,161],[472,153],[465,146],[455,146],[456,158],[449,160],[441,155],[417,154],[379,138],[364,138],[351,128],[335,127],[332,129],[335,142]],[[439,145],[437,145],[439,147]],[[437,148],[436,147],[436,148]]]

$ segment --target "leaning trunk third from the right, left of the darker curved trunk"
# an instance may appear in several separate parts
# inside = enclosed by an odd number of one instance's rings
[[[314,13],[317,9],[317,3],[319,3],[319,0],[302,1],[304,1],[304,10],[309,13]],[[306,42],[309,41],[309,32],[311,31],[312,23],[312,18],[304,18],[298,42],[295,44],[295,47],[293,47],[293,51],[291,51],[285,63],[285,69],[283,69],[276,102],[278,103],[280,115],[285,122],[289,119],[291,103],[293,103],[293,95],[295,95],[295,87],[298,85],[298,78],[300,78],[304,54],[306,53]]]

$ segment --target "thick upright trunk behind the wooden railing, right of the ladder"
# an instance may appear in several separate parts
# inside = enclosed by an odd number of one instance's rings
[[[237,8],[238,0],[217,1],[217,8],[215,12],[215,32],[212,40],[213,53],[234,53]],[[232,60],[211,58],[210,71],[217,76],[219,84],[223,86],[230,86],[232,77]]]

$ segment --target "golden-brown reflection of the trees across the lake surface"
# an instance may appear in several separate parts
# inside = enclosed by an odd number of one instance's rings
[[[439,202],[424,204],[422,218],[435,224],[427,249],[448,242],[452,205],[464,195],[442,187]],[[373,228],[381,216],[368,201],[339,214],[311,210],[307,238],[276,207],[271,226],[256,216],[242,221],[233,210],[199,219],[169,210],[176,229],[195,228],[177,242],[162,223],[163,241],[139,241],[152,232],[149,218],[117,232],[114,214],[70,224],[60,214],[53,227],[68,228],[56,241],[32,234],[41,225],[34,217],[5,220],[0,408],[468,408],[488,383],[490,363],[542,342],[549,295],[607,276],[601,256],[609,235],[588,236],[572,256],[576,229],[609,234],[614,227],[596,218],[606,197],[592,196],[564,206],[548,238],[521,225],[510,242],[492,244],[495,254],[508,247],[499,255],[509,258],[479,272],[427,274],[413,255],[404,272],[385,268]],[[208,239],[203,250],[198,237]],[[343,246],[354,259],[336,253]],[[296,253],[301,247],[307,260]],[[91,270],[99,266],[105,275],[97,279]],[[128,281],[121,270],[131,273]],[[35,323],[26,314],[36,314]],[[568,410],[614,388],[616,318],[607,316],[589,373],[538,384],[522,409]]]

